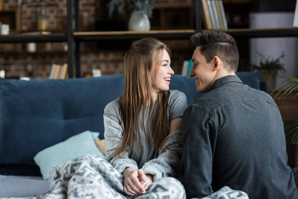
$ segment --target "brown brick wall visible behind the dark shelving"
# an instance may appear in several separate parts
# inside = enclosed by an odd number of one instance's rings
[[[16,10],[18,0],[3,0],[4,10]],[[59,0],[59,23],[56,24],[55,8],[47,8],[45,19],[47,30],[66,32],[67,0]],[[163,0],[164,1],[164,0]],[[79,0],[81,31],[89,31],[90,25],[101,18],[99,0]],[[35,8],[22,6],[23,32],[36,31]],[[154,16],[153,16],[154,17]],[[181,73],[184,59],[192,56],[192,46],[188,40],[164,41],[172,50],[172,68]],[[93,43],[91,43],[93,44]],[[49,45],[49,44],[48,44]],[[4,69],[7,77],[30,77],[31,79],[48,78],[52,64],[67,63],[65,43],[52,43],[51,50],[43,52],[44,44],[38,44],[36,53],[26,51],[26,44],[0,44],[0,69]],[[100,69],[102,75],[123,73],[123,59],[125,52],[92,52],[90,43],[81,43],[81,73],[90,74],[93,69]]]

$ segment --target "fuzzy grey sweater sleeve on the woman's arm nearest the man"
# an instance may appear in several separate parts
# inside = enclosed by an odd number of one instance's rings
[[[176,130],[166,137],[158,157],[145,163],[142,170],[152,174],[153,181],[163,177],[178,178],[182,150],[182,131]]]

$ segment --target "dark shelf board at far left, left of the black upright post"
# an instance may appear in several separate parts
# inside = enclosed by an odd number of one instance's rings
[[[0,35],[0,43],[46,43],[46,42],[66,42],[67,37],[64,33],[39,34],[39,35]]]

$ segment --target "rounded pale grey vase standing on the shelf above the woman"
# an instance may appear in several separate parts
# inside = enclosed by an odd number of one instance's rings
[[[130,31],[148,31],[150,30],[150,21],[144,11],[133,11],[129,21],[128,29]]]

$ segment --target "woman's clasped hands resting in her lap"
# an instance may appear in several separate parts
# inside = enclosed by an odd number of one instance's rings
[[[133,170],[126,168],[123,172],[123,177],[123,191],[131,197],[146,194],[147,188],[153,182],[153,175],[145,174],[142,169]]]

